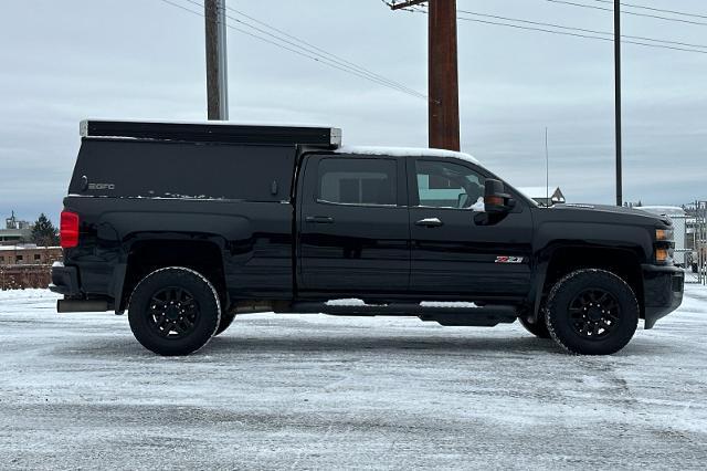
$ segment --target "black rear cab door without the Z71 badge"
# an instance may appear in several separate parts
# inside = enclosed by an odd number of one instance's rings
[[[298,197],[298,287],[404,293],[410,229],[404,161],[310,155]]]

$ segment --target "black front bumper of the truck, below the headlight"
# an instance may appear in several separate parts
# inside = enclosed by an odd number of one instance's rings
[[[679,307],[683,302],[685,272],[677,266],[643,265],[645,328]]]

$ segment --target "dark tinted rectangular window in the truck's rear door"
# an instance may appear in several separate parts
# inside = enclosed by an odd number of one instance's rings
[[[318,199],[342,205],[395,205],[395,160],[325,158],[319,161]]]

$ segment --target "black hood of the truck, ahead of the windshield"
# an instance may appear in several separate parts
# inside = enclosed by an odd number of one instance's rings
[[[609,205],[556,205],[548,208],[564,220],[578,222],[610,222],[616,224],[672,226],[666,216],[656,216],[634,208]]]

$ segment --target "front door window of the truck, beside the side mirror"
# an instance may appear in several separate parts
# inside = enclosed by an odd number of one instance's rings
[[[451,161],[416,160],[419,206],[479,208],[483,210],[485,178]],[[479,200],[481,199],[481,200]]]

